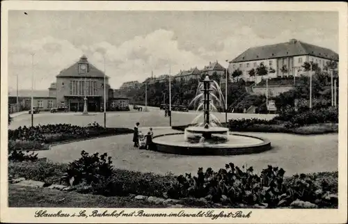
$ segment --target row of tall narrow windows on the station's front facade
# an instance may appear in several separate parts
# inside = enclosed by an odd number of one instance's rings
[[[70,95],[97,95],[98,93],[97,81],[72,80],[69,88]]]

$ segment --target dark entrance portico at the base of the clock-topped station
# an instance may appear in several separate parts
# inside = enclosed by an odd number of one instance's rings
[[[68,102],[68,109],[72,112],[84,111],[84,97],[65,97]],[[102,97],[87,97],[87,109],[91,112],[99,112]]]

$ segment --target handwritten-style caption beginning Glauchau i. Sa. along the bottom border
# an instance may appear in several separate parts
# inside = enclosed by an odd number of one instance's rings
[[[249,211],[248,213],[243,211],[196,211],[196,212],[189,212],[185,210],[177,211],[177,212],[164,212],[164,213],[151,213],[144,210],[135,210],[131,212],[126,212],[125,210],[93,210],[93,211],[87,211],[87,210],[81,210],[79,212],[73,212],[73,213],[65,213],[62,210],[56,212],[56,213],[50,213],[47,210],[38,210],[35,211],[34,217],[35,218],[69,218],[69,217],[79,217],[79,218],[89,218],[89,217],[113,217],[113,218],[121,218],[121,217],[178,217],[178,218],[211,218],[212,220],[216,220],[218,218],[251,218],[252,211]]]

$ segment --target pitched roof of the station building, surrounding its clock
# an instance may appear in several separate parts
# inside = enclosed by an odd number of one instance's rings
[[[79,74],[79,63],[88,63],[89,65],[89,72],[87,74]],[[79,61],[74,63],[68,68],[65,68],[64,70],[61,70],[61,72],[56,77],[87,77],[87,78],[104,78],[104,72],[100,71],[88,62],[88,59],[86,56],[81,56]],[[109,78],[106,76],[106,79]]]

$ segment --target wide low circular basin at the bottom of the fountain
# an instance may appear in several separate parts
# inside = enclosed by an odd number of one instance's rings
[[[155,136],[152,142],[158,152],[184,155],[252,154],[271,149],[269,140],[242,134],[228,134],[228,141],[218,143],[192,143],[182,133],[163,134]]]

